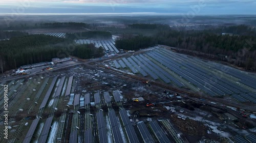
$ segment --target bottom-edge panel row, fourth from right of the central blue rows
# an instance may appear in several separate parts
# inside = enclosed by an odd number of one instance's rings
[[[120,129],[119,129],[119,125],[117,124],[118,121],[117,121],[114,110],[109,111],[109,118],[110,118],[110,125],[111,125],[115,143],[123,142],[123,139],[122,139],[122,136],[120,133]]]

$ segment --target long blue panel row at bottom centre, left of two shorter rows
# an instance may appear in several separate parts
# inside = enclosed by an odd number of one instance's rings
[[[133,128],[133,125],[131,124],[131,121],[127,115],[127,111],[125,109],[121,109],[119,111],[119,114],[121,116],[121,119],[122,119],[122,122],[124,125],[124,129],[126,131],[129,141],[130,142],[139,142],[138,137]]]

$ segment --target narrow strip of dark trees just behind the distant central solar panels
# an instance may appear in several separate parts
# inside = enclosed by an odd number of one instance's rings
[[[88,31],[79,33],[67,33],[68,39],[112,39],[112,34],[106,31]]]

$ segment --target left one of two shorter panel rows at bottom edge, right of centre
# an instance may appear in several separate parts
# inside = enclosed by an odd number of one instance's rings
[[[148,131],[148,129],[147,129],[147,127],[146,127],[144,122],[139,122],[137,124],[137,127],[138,127],[138,129],[140,131],[140,134],[141,134],[141,136],[142,136],[142,138],[143,138],[145,143],[147,143],[147,142],[155,142],[153,137],[150,134],[150,131]]]

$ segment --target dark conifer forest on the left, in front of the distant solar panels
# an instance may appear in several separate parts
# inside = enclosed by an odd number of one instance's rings
[[[103,50],[97,49],[93,44],[76,45],[73,40],[46,35],[28,35],[0,41],[0,50],[0,71],[2,73],[23,65],[50,62],[56,57],[65,58],[74,55],[89,59],[103,54]]]

